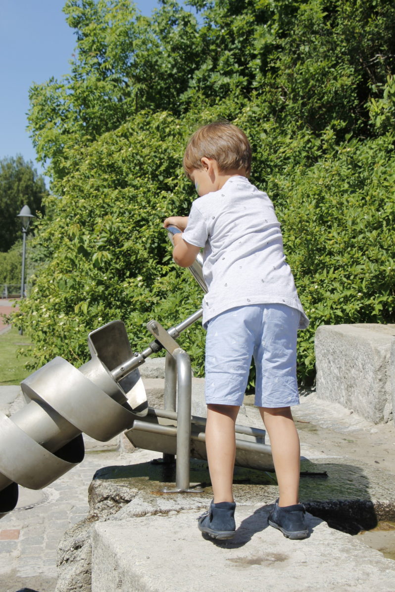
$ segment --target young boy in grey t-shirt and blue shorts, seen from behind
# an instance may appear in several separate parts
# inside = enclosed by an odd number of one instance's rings
[[[248,181],[251,146],[239,128],[226,122],[201,127],[183,164],[200,197],[188,217],[166,218],[164,226],[183,231],[174,236],[178,265],[190,266],[204,247],[205,443],[214,498],[198,527],[217,539],[235,535],[235,422],[253,356],[255,405],[269,434],[280,494],[269,524],[291,539],[305,538],[300,445],[290,406],[299,402],[297,330],[309,320],[285,262],[280,224],[268,196]]]

